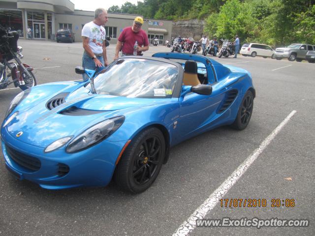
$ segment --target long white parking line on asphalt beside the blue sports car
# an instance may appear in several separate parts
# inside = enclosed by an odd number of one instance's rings
[[[260,146],[254,150],[252,155],[246,158],[246,160],[230,175],[225,181],[217,188],[204,203],[198,207],[173,234],[173,236],[187,236],[191,231],[196,228],[196,220],[204,219],[204,217],[212,210],[228,192],[228,190],[239,180],[240,177],[247,171],[251,164],[257,159],[257,157],[263,152],[263,150],[270,144],[270,142],[276,137],[284,125],[296,111],[292,111],[272,133],[260,144]]]

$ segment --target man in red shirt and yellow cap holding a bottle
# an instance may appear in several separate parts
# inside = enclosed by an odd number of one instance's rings
[[[147,33],[141,29],[143,19],[137,16],[131,27],[126,27],[118,37],[114,60],[118,59],[119,51],[122,49],[122,56],[133,55],[133,46],[137,41],[137,56],[141,56],[142,52],[149,50],[149,40]],[[143,45],[143,47],[142,47]]]

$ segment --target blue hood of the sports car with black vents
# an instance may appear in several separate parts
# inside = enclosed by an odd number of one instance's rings
[[[5,127],[9,134],[21,142],[45,148],[60,138],[77,136],[107,118],[125,115],[134,109],[165,104],[163,98],[99,95],[81,87],[66,93],[63,104],[48,110],[46,105],[58,94],[60,92],[31,107],[18,107],[19,114]],[[17,138],[16,134],[20,131],[23,135]]]

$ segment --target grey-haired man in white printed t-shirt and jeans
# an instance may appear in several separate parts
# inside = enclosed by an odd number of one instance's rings
[[[108,21],[107,11],[104,8],[95,10],[94,21],[84,25],[82,39],[84,53],[82,66],[90,70],[100,70],[108,65],[106,55],[106,31],[103,25]],[[83,75],[83,80],[88,76]]]

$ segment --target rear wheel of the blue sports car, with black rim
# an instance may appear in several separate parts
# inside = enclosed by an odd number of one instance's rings
[[[248,90],[243,97],[237,116],[232,124],[233,128],[243,130],[247,127],[252,117],[253,105],[254,96],[252,95],[252,91]]]

